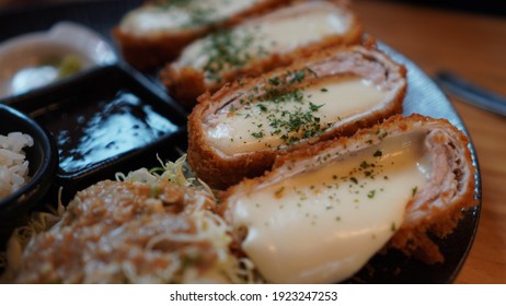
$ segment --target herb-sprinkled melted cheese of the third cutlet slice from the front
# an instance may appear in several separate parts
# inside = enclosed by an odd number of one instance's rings
[[[205,71],[206,82],[214,83],[220,81],[221,71],[237,70],[251,59],[287,54],[342,35],[350,22],[345,12],[329,2],[302,2],[196,40],[185,48],[173,67]]]

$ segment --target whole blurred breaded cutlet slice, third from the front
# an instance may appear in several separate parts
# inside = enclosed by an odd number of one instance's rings
[[[160,76],[176,101],[192,107],[206,91],[287,66],[325,47],[359,43],[361,34],[345,2],[296,1],[194,42]]]

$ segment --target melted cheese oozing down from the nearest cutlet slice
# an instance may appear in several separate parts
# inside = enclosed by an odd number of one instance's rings
[[[323,163],[314,156],[297,165],[308,169],[231,196],[232,226],[248,228],[242,249],[268,282],[352,276],[392,237],[428,181],[424,139],[411,132]]]

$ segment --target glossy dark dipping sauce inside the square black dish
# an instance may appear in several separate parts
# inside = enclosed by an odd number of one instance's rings
[[[60,169],[66,174],[88,169],[180,129],[128,91],[95,101],[79,98],[60,107],[37,121],[55,138]]]

